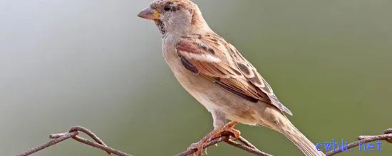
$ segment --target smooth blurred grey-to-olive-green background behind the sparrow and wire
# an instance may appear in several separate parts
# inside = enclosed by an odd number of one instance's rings
[[[195,0],[217,33],[272,85],[314,143],[392,128],[392,1]],[[150,0],[0,0],[0,155],[85,126],[135,156],[175,155],[212,130],[205,108],[137,18]],[[301,155],[267,128],[237,126],[273,155]],[[341,155],[391,155],[347,152]],[[249,155],[220,144],[209,155]],[[107,155],[67,140],[35,155]]]

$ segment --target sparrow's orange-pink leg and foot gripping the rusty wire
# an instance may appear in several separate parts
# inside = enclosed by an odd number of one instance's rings
[[[239,130],[234,129],[234,126],[237,125],[238,122],[236,121],[231,121],[229,123],[227,123],[225,126],[223,126],[222,128],[217,128],[212,130],[210,133],[208,133],[207,135],[205,135],[204,138],[202,138],[202,140],[200,140],[197,143],[192,143],[192,145],[190,145],[190,147],[187,147],[187,150],[190,149],[197,149],[197,156],[201,156],[202,155],[202,150],[203,147],[205,146],[205,144],[215,138],[219,138],[222,136],[222,133],[224,132],[229,132],[232,133],[234,135],[234,140],[237,140],[239,138],[239,136],[241,135],[241,132],[239,132]]]

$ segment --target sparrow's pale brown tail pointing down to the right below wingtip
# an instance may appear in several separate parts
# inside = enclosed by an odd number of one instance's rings
[[[276,127],[279,133],[292,141],[306,156],[325,156],[316,146],[305,137],[288,119],[282,126]]]

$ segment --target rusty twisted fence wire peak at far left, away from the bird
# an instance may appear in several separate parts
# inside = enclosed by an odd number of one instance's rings
[[[93,138],[93,140],[95,140],[96,143],[91,141],[91,140],[87,140],[85,138],[81,138],[80,136],[78,136],[78,134],[79,134],[78,131],[86,133],[88,136]],[[34,152],[38,152],[40,150],[45,149],[46,147],[50,147],[51,145],[55,145],[56,143],[60,143],[63,140],[67,140],[69,138],[73,138],[74,140],[77,140],[80,143],[84,143],[86,145],[90,145],[92,147],[96,147],[96,148],[98,148],[100,150],[104,150],[104,151],[108,152],[109,155],[111,153],[113,153],[113,154],[119,155],[119,156],[130,156],[129,154],[127,154],[125,152],[121,152],[120,150],[115,150],[112,147],[108,147],[105,143],[103,143],[102,140],[100,140],[100,138],[98,138],[98,136],[96,134],[91,132],[91,130],[88,130],[87,128],[83,128],[81,126],[74,126],[74,127],[71,128],[71,130],[69,130],[66,133],[51,134],[51,135],[49,135],[49,138],[51,138],[53,140],[49,141],[48,143],[44,143],[42,145],[38,145],[37,147],[33,147],[31,150],[27,150],[26,152],[23,152],[23,153],[21,153],[18,156],[31,155]]]

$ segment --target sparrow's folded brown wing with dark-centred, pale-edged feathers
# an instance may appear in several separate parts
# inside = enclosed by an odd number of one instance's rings
[[[269,84],[242,55],[219,35],[187,35],[176,45],[182,65],[249,101],[264,101],[290,115]]]

